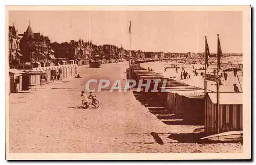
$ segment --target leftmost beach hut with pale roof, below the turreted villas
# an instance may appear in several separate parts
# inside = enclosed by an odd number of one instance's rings
[[[9,93],[18,93],[22,90],[22,75],[24,72],[17,69],[9,69]]]

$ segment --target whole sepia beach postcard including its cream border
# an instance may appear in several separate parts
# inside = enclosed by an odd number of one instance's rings
[[[251,159],[251,6],[6,6],[7,160]]]

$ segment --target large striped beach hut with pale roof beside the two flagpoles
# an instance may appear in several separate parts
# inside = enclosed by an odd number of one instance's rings
[[[205,132],[243,130],[243,92],[220,92],[219,113],[216,95],[216,92],[207,92],[205,96]]]

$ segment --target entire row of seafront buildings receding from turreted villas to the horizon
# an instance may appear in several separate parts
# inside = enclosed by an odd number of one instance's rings
[[[63,64],[87,65],[90,60],[128,59],[129,50],[110,44],[95,45],[92,41],[79,38],[70,42],[51,43],[48,36],[34,33],[30,24],[24,33],[18,33],[15,26],[9,26],[9,68],[46,67]],[[131,50],[131,58],[202,58],[204,53],[164,53]],[[242,56],[242,54],[222,54],[222,56]],[[211,54],[216,57],[216,54]]]

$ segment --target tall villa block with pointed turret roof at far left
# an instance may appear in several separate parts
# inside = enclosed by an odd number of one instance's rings
[[[50,39],[40,33],[33,33],[30,25],[24,33],[18,33],[15,26],[9,26],[9,67],[20,64],[46,63],[53,50]]]

